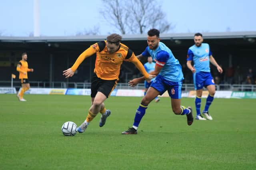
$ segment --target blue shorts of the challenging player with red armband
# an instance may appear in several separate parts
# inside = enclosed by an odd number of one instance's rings
[[[181,99],[182,81],[168,81],[161,75],[158,75],[156,79],[152,81],[150,87],[154,87],[154,89],[159,91],[160,95],[164,94],[164,92],[167,90],[172,99]]]

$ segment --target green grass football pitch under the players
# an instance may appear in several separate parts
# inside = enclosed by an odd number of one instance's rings
[[[186,116],[172,113],[170,99],[160,98],[150,103],[138,134],[122,135],[142,97],[110,97],[104,127],[97,115],[84,133],[64,136],[64,122],[79,126],[86,118],[89,96],[24,98],[0,95],[0,170],[256,169],[255,99],[214,99],[213,121],[188,126]],[[195,117],[194,99],[182,105],[192,106]]]

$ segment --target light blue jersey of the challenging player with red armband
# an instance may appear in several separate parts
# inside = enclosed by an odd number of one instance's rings
[[[158,75],[161,75],[164,79],[173,82],[184,79],[178,59],[174,57],[172,51],[164,43],[159,42],[159,46],[154,50],[146,47],[142,55],[145,57],[151,56],[156,61],[156,65],[162,67]]]

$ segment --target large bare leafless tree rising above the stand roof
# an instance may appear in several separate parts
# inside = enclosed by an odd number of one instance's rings
[[[143,34],[150,28],[167,32],[174,28],[157,0],[102,0],[101,16],[122,34]]]

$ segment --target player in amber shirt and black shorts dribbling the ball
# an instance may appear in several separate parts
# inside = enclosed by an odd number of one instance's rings
[[[100,41],[91,45],[76,59],[74,65],[63,71],[63,75],[72,77],[78,66],[86,57],[90,57],[96,53],[96,61],[94,75],[92,76],[91,84],[91,101],[92,105],[88,111],[86,120],[80,127],[78,132],[82,133],[86,130],[89,123],[100,112],[99,126],[103,127],[106,123],[106,118],[110,115],[110,110],[106,110],[104,101],[109,97],[111,92],[117,85],[120,67],[123,61],[134,63],[145,79],[152,79],[154,76],[149,75],[144,69],[142,63],[134,55],[133,51],[123,43],[120,43],[122,37],[118,34],[111,34],[106,41]]]

